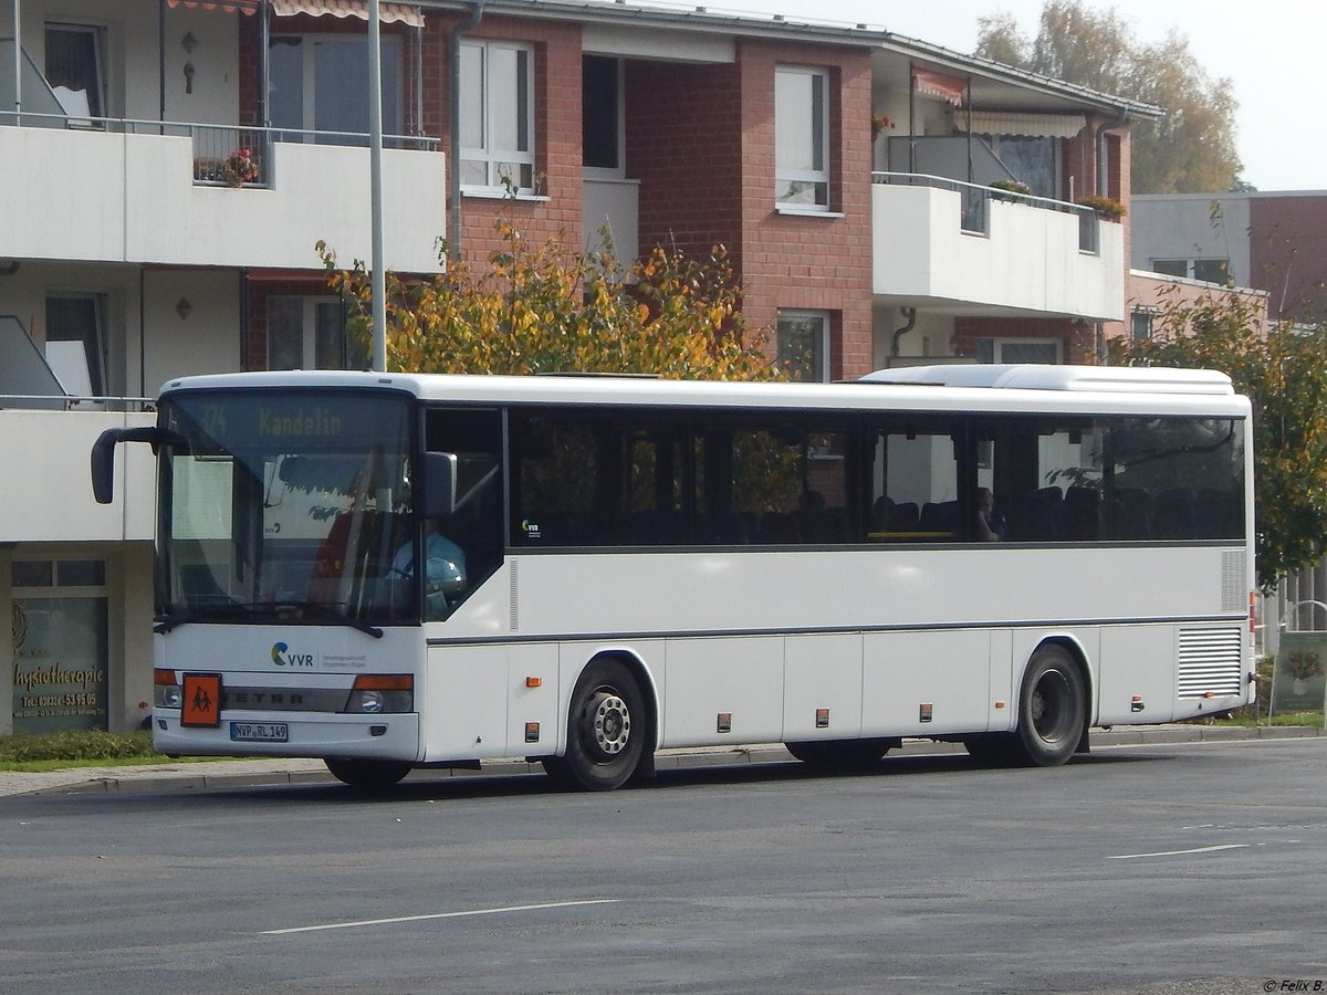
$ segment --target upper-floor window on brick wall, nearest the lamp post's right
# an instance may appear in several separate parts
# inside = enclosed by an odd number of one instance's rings
[[[460,46],[460,183],[535,188],[535,54],[496,41]]]

